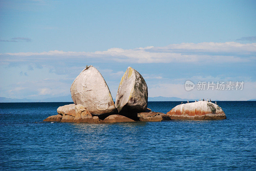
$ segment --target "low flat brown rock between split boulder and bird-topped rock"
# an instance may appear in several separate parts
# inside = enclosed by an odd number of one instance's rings
[[[138,113],[138,117],[140,118],[140,121],[144,121],[144,122],[161,122],[163,120],[162,115],[165,115],[165,114],[159,113],[159,112]]]

